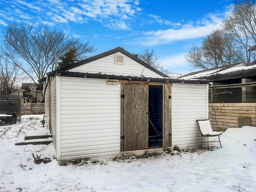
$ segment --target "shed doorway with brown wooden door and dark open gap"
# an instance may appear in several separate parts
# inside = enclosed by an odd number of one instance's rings
[[[169,146],[169,87],[123,84],[122,151]]]

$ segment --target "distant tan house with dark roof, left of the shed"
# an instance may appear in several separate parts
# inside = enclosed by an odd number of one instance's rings
[[[21,103],[40,103],[42,102],[42,91],[38,90],[38,84],[22,83],[21,90],[10,95],[19,95]]]

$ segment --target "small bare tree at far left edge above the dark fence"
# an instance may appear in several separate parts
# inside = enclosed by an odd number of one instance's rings
[[[19,68],[0,60],[0,94],[9,95],[18,90],[21,82]]]

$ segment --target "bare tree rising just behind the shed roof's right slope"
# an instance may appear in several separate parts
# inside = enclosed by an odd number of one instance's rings
[[[144,61],[146,64],[154,67],[155,69],[161,71],[164,74],[168,74],[168,69],[161,65],[158,61],[160,56],[157,56],[154,50],[144,49],[142,53],[138,54],[138,58]]]

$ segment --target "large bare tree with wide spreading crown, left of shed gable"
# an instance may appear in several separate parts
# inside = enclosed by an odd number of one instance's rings
[[[64,32],[51,31],[47,26],[34,28],[28,23],[11,24],[3,33],[4,44],[0,51],[35,83],[53,70],[56,60],[71,48],[76,48],[77,58],[95,52],[89,42],[82,44],[78,39],[68,38]]]

